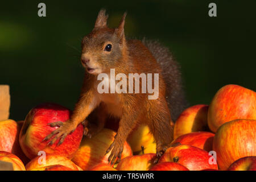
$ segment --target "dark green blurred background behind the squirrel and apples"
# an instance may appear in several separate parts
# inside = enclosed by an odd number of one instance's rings
[[[38,4],[46,3],[46,17]],[[210,2],[217,17],[208,16]],[[42,102],[73,109],[84,69],[81,38],[104,7],[109,26],[127,11],[130,38],[157,39],[181,65],[191,105],[209,104],[226,84],[256,91],[256,1],[3,1],[0,7],[0,84],[10,85],[10,118]]]

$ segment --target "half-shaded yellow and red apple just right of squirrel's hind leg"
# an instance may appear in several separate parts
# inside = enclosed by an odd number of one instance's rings
[[[195,131],[208,131],[208,107],[208,105],[200,104],[185,109],[175,122],[174,139]]]

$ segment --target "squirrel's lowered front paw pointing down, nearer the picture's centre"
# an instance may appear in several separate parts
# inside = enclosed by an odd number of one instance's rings
[[[106,154],[108,154],[111,150],[112,152],[108,158],[108,161],[109,163],[111,162],[110,163],[111,165],[113,165],[115,162],[115,159],[118,158],[117,163],[121,160],[121,155],[123,152],[123,144],[117,143],[116,140],[114,140],[114,142],[109,146],[108,150],[106,151]]]

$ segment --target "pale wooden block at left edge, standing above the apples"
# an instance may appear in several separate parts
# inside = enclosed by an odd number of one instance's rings
[[[9,85],[0,85],[0,121],[9,118],[10,104]]]

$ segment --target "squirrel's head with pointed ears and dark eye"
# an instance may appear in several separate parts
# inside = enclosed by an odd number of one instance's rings
[[[122,64],[126,55],[125,16],[126,13],[117,28],[109,28],[105,10],[98,13],[93,31],[82,39],[81,63],[88,73],[108,73]]]

